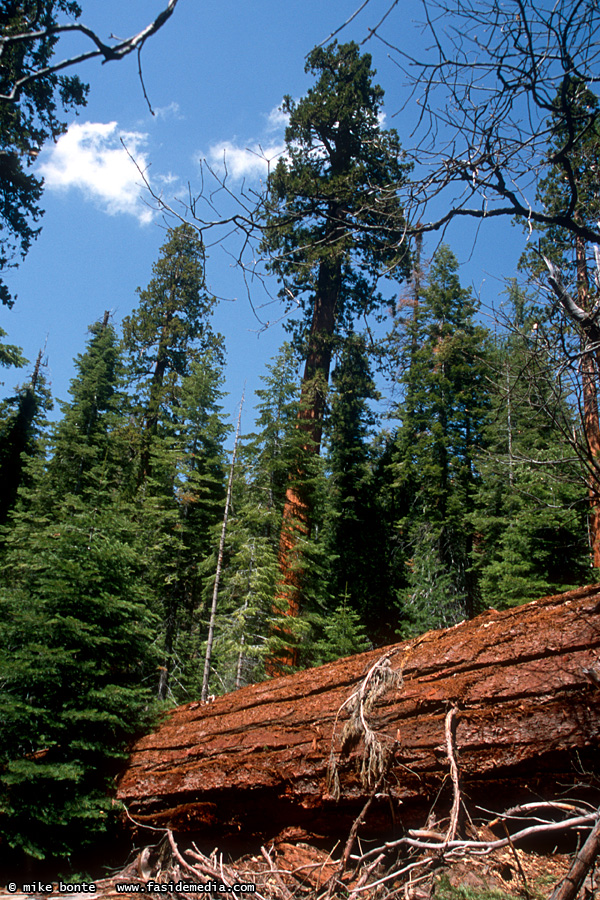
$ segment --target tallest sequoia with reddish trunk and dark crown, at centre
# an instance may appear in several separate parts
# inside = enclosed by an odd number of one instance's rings
[[[296,341],[305,361],[299,425],[308,453],[318,453],[332,352],[358,316],[377,312],[385,275],[406,272],[398,189],[407,166],[397,133],[381,127],[383,90],[369,54],[354,43],[317,47],[305,97],[284,98],[286,153],[269,179],[263,250],[287,309],[301,310]],[[282,530],[284,579],[294,557],[294,529],[310,525],[308,504],[290,488]],[[297,533],[297,532],[296,532]],[[290,612],[299,598],[290,601]]]

